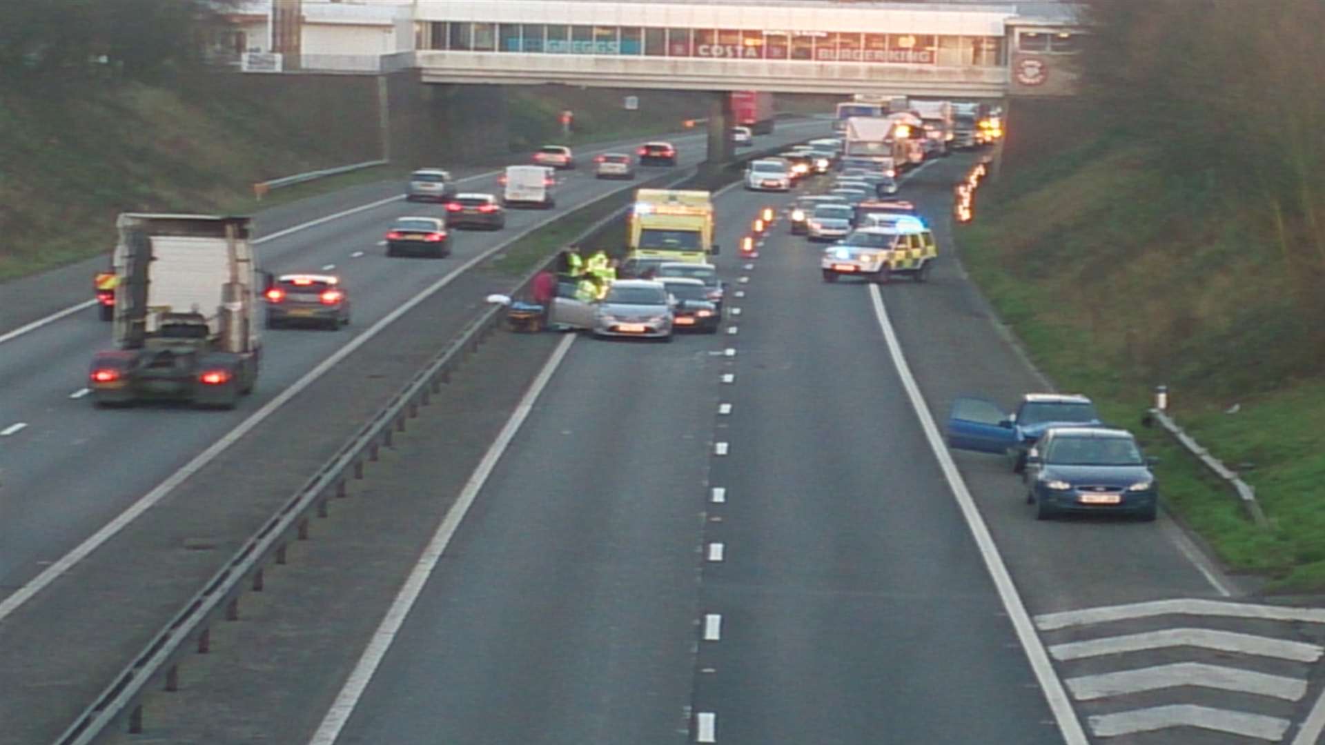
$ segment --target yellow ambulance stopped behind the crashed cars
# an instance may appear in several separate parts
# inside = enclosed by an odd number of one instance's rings
[[[713,195],[698,190],[636,190],[627,220],[627,261],[708,264],[717,253]]]

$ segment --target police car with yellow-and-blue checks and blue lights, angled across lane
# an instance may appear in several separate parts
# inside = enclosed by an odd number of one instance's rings
[[[819,268],[825,282],[844,276],[886,282],[894,274],[924,282],[935,258],[934,233],[912,219],[853,231],[847,240],[824,249]]]

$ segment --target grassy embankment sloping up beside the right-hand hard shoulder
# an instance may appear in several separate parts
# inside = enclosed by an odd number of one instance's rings
[[[1264,573],[1267,591],[1325,590],[1318,286],[1288,252],[1246,251],[1277,241],[1273,215],[1165,180],[1151,156],[1096,141],[987,184],[958,231],[962,258],[1060,388],[1094,398],[1161,456],[1167,504],[1231,569]],[[1162,431],[1137,426],[1157,384],[1256,488],[1268,529]]]

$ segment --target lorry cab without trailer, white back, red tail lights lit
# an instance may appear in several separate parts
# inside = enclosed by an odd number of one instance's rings
[[[257,382],[257,296],[270,285],[254,266],[252,220],[126,212],[115,224],[115,347],[93,357],[93,403],[233,408]]]

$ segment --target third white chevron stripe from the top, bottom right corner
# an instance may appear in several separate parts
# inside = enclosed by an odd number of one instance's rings
[[[1206,663],[1171,663],[1163,665],[1102,672],[1069,677],[1067,683],[1079,701],[1093,701],[1109,696],[1145,693],[1178,685],[1199,685],[1238,693],[1269,696],[1296,701],[1306,695],[1306,681],[1283,675],[1269,675],[1236,667]]]

